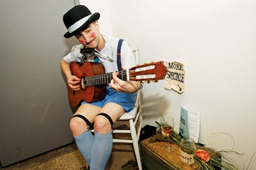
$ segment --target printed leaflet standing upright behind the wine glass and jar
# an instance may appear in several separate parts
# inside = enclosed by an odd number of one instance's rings
[[[198,143],[200,133],[200,113],[198,110],[182,106],[180,111],[180,132],[182,138],[192,138]]]

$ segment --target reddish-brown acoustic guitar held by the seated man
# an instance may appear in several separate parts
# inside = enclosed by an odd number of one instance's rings
[[[68,87],[68,98],[72,106],[78,106],[81,101],[91,103],[104,99],[106,85],[113,79],[113,73],[105,73],[104,66],[99,62],[72,62],[70,69],[72,74],[81,78],[81,90]],[[166,71],[163,61],[151,62],[118,71],[118,78],[124,81],[157,81],[164,79]]]

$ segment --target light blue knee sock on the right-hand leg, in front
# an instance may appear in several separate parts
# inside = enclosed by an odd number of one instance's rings
[[[92,147],[90,170],[104,170],[112,152],[112,133],[98,134],[95,132],[95,141]]]

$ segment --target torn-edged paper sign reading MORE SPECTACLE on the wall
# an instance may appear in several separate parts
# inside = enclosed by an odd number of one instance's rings
[[[166,62],[168,71],[165,77],[164,88],[167,90],[174,90],[179,94],[184,92],[185,70],[184,64],[180,62]]]

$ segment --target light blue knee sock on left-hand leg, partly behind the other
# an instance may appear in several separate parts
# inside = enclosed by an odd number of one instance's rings
[[[92,153],[92,146],[94,143],[94,137],[92,135],[92,132],[90,131],[85,131],[83,134],[80,136],[74,136],[77,148],[83,155],[84,159],[86,162],[91,164],[91,153]]]

